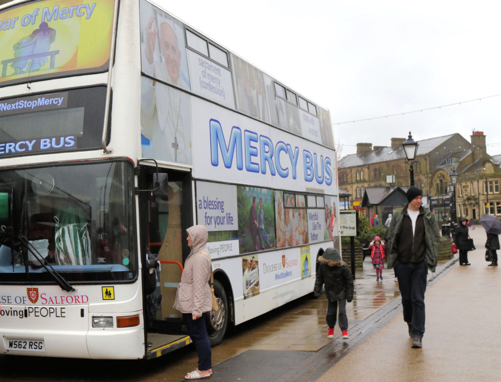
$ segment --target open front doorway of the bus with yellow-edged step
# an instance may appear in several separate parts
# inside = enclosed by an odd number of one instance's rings
[[[183,233],[192,225],[191,176],[152,166],[138,169],[145,347],[146,358],[153,358],[190,343],[182,314],[172,305],[183,253],[189,253]],[[159,267],[147,268],[148,256]]]

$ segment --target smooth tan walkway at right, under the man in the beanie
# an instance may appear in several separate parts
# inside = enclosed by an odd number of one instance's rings
[[[500,381],[501,269],[484,259],[485,231],[469,232],[477,248],[468,252],[471,265],[456,261],[428,285],[421,349],[411,348],[399,309],[318,381]]]

